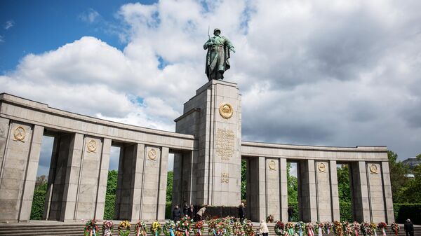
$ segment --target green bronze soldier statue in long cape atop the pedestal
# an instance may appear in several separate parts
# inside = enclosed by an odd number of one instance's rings
[[[221,30],[213,30],[213,36],[206,41],[203,49],[208,49],[206,54],[206,76],[208,80],[222,80],[224,72],[229,69],[229,51],[235,53],[231,41],[224,36],[220,36]]]

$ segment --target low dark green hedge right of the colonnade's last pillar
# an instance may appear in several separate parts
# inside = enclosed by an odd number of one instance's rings
[[[395,221],[397,223],[405,223],[410,218],[415,225],[421,224],[421,204],[393,204]]]

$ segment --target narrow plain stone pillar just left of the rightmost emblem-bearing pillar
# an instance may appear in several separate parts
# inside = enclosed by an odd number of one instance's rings
[[[352,162],[352,196],[354,219],[356,221],[370,221],[370,203],[368,202],[368,186],[366,162]]]

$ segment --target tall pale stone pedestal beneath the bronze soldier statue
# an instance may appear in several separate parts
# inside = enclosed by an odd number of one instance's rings
[[[199,146],[192,154],[193,160],[188,157],[175,160],[178,163],[174,165],[174,175],[179,181],[174,182],[173,188],[180,191],[174,199],[191,199],[195,205],[238,206],[241,200],[241,95],[236,84],[209,81],[185,103],[183,115],[175,122],[176,132],[194,134]],[[193,178],[188,178],[186,173],[190,172]],[[191,188],[184,189],[184,186]],[[192,197],[182,197],[187,195]]]

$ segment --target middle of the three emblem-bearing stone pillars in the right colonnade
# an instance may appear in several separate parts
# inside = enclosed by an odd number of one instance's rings
[[[317,221],[332,221],[330,169],[336,169],[336,165],[332,167],[328,161],[316,161],[315,163]]]

